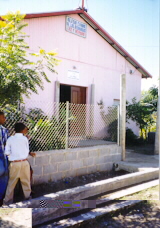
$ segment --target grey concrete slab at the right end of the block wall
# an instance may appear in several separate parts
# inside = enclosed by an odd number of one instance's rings
[[[131,151],[126,152],[126,160],[117,162],[118,170],[128,172],[149,171],[159,168],[159,155],[138,154]]]

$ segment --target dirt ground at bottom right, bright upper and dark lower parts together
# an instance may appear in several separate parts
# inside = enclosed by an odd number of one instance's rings
[[[123,197],[125,200],[145,200],[134,207],[111,213],[75,228],[160,228],[159,186]]]

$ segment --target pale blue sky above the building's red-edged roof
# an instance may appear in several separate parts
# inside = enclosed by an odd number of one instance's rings
[[[0,0],[0,15],[73,10],[82,0]],[[160,0],[85,0],[85,8],[151,75],[142,90],[159,83]]]

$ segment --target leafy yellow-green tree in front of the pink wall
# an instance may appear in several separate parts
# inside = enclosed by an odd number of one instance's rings
[[[0,20],[0,104],[16,105],[23,95],[37,93],[38,87],[43,89],[43,79],[50,82],[45,69],[56,72],[60,61],[55,52],[47,53],[40,48],[39,53],[28,53],[24,17],[17,11]]]

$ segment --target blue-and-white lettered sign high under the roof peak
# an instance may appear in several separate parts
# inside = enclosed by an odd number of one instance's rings
[[[87,24],[67,16],[66,31],[85,38],[87,34]]]

